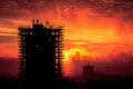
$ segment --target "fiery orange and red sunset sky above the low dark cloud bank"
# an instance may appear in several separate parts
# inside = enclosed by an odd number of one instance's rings
[[[39,19],[64,24],[66,76],[76,70],[75,60],[82,61],[81,68],[84,60],[96,69],[113,68],[114,61],[115,66],[126,66],[123,61],[133,60],[132,14],[132,0],[1,0],[0,57],[18,58],[18,27]]]

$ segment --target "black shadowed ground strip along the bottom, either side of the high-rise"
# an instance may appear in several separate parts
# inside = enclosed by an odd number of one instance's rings
[[[74,79],[64,78],[60,83],[61,89],[133,89],[133,77],[109,78],[100,80],[88,80],[84,83]],[[0,89],[20,89],[19,80],[14,78],[0,78]],[[49,88],[45,88],[49,89]]]

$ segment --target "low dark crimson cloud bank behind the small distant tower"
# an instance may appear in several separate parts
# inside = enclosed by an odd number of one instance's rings
[[[96,60],[91,57],[76,55],[72,57],[71,61],[68,63],[68,67],[71,66],[68,69],[70,76],[74,78],[82,77],[83,67],[86,65],[93,66],[95,72],[133,76],[133,55],[131,53],[121,52],[103,59],[96,58]]]

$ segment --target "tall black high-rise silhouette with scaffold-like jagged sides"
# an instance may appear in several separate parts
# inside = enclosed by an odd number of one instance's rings
[[[33,20],[19,28],[21,88],[54,88],[62,77],[63,28]],[[49,86],[51,85],[51,86]],[[54,88],[55,89],[55,88]]]

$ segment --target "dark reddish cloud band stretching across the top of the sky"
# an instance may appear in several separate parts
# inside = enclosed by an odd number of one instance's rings
[[[75,8],[90,8],[95,13],[104,16],[120,16],[123,19],[133,19],[132,0],[1,0],[0,17],[22,18],[22,16],[35,16],[40,12],[55,12],[57,4],[71,4]],[[72,9],[74,11],[74,9]]]

